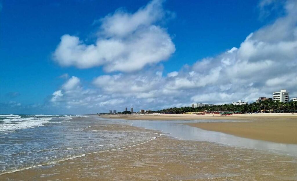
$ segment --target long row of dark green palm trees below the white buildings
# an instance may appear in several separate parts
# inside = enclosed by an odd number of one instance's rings
[[[151,111],[152,113],[167,113],[167,114],[180,114],[187,112],[203,112],[204,110],[215,112],[215,111],[227,111],[234,112],[239,111],[241,113],[255,113],[255,112],[265,112],[265,113],[295,113],[297,112],[297,102],[274,102],[272,100],[266,100],[262,102],[253,102],[247,105],[214,105],[213,107],[181,107],[181,108],[168,108],[158,111]],[[262,110],[262,111],[261,111]]]

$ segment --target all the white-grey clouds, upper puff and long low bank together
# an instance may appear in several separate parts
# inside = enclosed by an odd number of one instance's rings
[[[133,14],[118,10],[100,20],[100,38],[93,45],[62,36],[55,58],[63,66],[102,65],[107,72],[122,73],[95,77],[91,88],[73,76],[50,101],[56,106],[106,112],[129,106],[158,110],[194,102],[254,102],[280,89],[296,97],[297,1],[286,1],[283,8],[284,16],[247,35],[240,47],[193,65],[185,62],[179,71],[167,75],[157,63],[168,59],[175,47],[166,30],[155,25],[165,16],[162,2],[152,1]]]

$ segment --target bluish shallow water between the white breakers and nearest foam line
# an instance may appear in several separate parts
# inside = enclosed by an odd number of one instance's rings
[[[54,118],[42,126],[0,134],[0,174],[139,144],[156,137],[153,133],[108,130],[108,125],[118,122],[96,120],[94,117]],[[97,128],[92,129],[93,126]]]

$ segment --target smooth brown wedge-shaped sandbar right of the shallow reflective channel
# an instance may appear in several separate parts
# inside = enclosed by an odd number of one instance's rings
[[[238,137],[297,144],[297,120],[187,123],[187,125]]]

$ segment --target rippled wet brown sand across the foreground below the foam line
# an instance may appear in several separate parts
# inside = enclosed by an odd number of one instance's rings
[[[156,132],[129,125],[88,129]],[[296,157],[162,135],[140,145],[0,175],[0,180],[297,180],[296,170]]]

